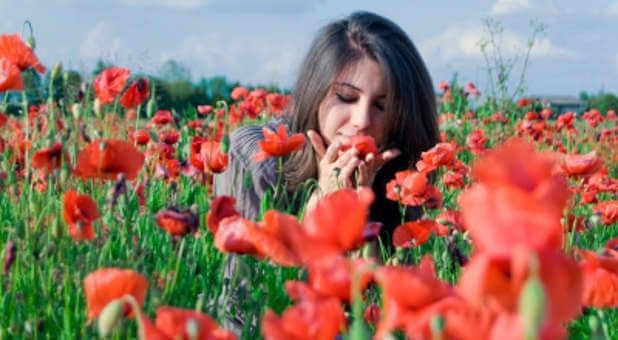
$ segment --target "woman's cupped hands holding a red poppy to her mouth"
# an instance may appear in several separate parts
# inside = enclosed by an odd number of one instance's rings
[[[307,136],[317,155],[318,184],[322,194],[340,188],[371,187],[380,168],[401,153],[398,149],[389,149],[377,156],[370,153],[361,159],[356,148],[340,152],[341,144],[337,141],[326,148],[322,137],[315,131],[307,131]],[[353,174],[356,169],[358,177],[355,179]]]

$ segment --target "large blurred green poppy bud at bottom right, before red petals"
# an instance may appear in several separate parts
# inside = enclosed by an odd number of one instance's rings
[[[539,330],[545,314],[545,289],[538,273],[531,268],[532,275],[526,280],[519,295],[519,315],[524,324],[524,339],[539,338]]]

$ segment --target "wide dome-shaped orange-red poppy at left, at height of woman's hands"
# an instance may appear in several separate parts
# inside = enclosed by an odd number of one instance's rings
[[[77,156],[74,174],[80,178],[113,179],[123,173],[134,180],[144,164],[144,154],[133,144],[116,139],[99,139]]]

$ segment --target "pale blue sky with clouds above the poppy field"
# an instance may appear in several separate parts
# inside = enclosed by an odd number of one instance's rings
[[[88,72],[102,58],[156,74],[175,59],[195,79],[291,87],[318,28],[359,9],[399,24],[436,85],[458,72],[487,90],[478,42],[491,16],[504,26],[506,58],[524,50],[531,19],[547,26],[531,52],[528,94],[618,93],[618,0],[0,0],[0,33],[32,21],[46,66]]]

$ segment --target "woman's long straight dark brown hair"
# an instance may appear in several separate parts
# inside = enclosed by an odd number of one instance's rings
[[[386,183],[394,178],[395,172],[414,169],[420,153],[438,140],[431,77],[414,44],[399,26],[377,14],[355,12],[322,28],[302,63],[292,93],[290,129],[293,133],[319,131],[318,107],[335,77],[348,64],[365,56],[381,65],[386,76],[388,140],[384,147],[401,151],[399,157],[380,169],[373,185],[376,202],[371,218],[392,229],[398,224],[399,214],[396,202],[385,198]],[[313,148],[307,143],[285,162],[288,187],[294,189],[309,178],[317,178],[317,166]]]

